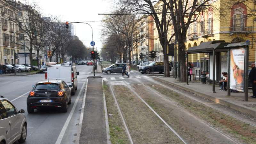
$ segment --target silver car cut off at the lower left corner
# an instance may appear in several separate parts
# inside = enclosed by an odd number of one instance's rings
[[[27,119],[24,110],[17,110],[8,99],[0,96],[0,144],[12,144],[27,138]]]

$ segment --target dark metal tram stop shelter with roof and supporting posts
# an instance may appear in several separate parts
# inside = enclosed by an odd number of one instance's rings
[[[227,46],[229,42],[225,41],[209,41],[202,42],[200,45],[191,47],[187,50],[187,70],[188,70],[188,54],[198,54],[198,53],[209,53],[210,56],[210,71],[209,78],[212,77],[212,93],[215,92],[215,81],[220,78],[219,60],[221,52],[228,52]],[[216,62],[217,61],[217,62]],[[217,69],[217,72],[216,72]],[[187,84],[188,84],[188,74],[187,74]]]

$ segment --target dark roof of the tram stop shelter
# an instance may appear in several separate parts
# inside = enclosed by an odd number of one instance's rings
[[[209,53],[215,49],[217,52],[228,51],[225,46],[227,46],[229,42],[225,41],[210,41],[210,42],[202,42],[199,46],[191,47],[187,50],[188,53]]]

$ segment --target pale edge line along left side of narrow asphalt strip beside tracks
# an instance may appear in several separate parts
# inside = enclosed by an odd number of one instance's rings
[[[86,80],[86,86],[84,90],[84,98],[83,98],[83,104],[82,104],[82,109],[80,113],[80,118],[79,118],[79,128],[78,128],[78,135],[76,137],[76,143],[79,144],[80,141],[80,134],[82,132],[82,125],[83,125],[83,118],[84,118],[84,107],[85,107],[85,100],[86,100],[86,94],[87,94],[87,86],[88,86],[88,79]]]

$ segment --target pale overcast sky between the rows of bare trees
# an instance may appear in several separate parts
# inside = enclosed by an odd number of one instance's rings
[[[99,21],[103,15],[98,13],[108,13],[113,11],[113,0],[33,0],[41,9],[43,16],[60,16],[61,21],[87,22]],[[33,2],[29,0],[29,2]],[[21,0],[21,2],[23,2]],[[93,29],[93,40],[95,47],[100,50],[102,47],[100,31],[101,22],[88,22]],[[74,24],[75,34],[86,47],[91,47],[92,30],[86,24]]]

